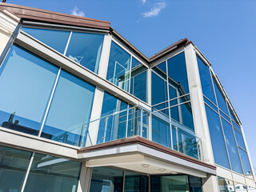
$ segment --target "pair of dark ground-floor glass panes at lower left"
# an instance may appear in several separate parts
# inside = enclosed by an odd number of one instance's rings
[[[77,191],[81,164],[0,146],[0,191],[21,191],[22,186],[24,191]]]

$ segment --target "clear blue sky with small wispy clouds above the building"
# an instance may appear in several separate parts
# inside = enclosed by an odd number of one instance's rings
[[[195,0],[7,0],[9,3],[78,14],[111,22],[150,56],[189,38],[212,63],[245,130],[256,166],[256,1]],[[60,5],[61,2],[61,5]],[[250,90],[250,92],[249,92]],[[251,96],[250,96],[251,95]]]

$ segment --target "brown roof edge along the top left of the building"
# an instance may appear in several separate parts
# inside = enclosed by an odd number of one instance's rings
[[[19,18],[30,21],[51,22],[70,26],[84,26],[102,30],[110,30],[110,22],[93,18],[84,18],[71,14],[62,14],[50,10],[40,10],[28,6],[18,6],[0,2],[1,10],[8,10]]]

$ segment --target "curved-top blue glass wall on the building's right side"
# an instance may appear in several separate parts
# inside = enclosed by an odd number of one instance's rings
[[[215,163],[251,177],[251,168],[241,127],[226,102],[217,78],[200,58],[198,69]]]

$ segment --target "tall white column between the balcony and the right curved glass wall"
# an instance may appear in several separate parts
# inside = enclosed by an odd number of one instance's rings
[[[195,133],[202,141],[202,155],[204,162],[214,165],[214,154],[210,142],[210,131],[206,117],[206,109],[202,96],[202,86],[198,70],[198,62],[194,46],[190,43],[185,47],[186,68],[190,87],[191,106],[194,117]],[[217,178],[214,175],[209,175],[202,180],[203,191],[215,192],[218,191]]]

